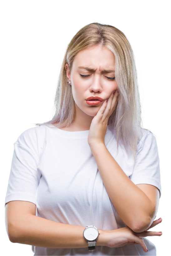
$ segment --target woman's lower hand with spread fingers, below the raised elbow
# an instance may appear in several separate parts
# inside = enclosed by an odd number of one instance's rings
[[[149,229],[159,225],[161,222],[162,219],[153,221]],[[105,230],[104,232],[106,246],[110,248],[117,248],[125,246],[126,244],[140,244],[144,252],[148,252],[143,238],[140,237],[161,237],[163,234],[157,231],[148,231],[149,229],[140,233],[134,232],[129,227],[122,227],[114,230]]]

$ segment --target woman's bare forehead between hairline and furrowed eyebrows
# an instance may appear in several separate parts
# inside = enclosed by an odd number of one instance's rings
[[[105,47],[96,46],[80,51],[74,58],[73,65],[78,67],[90,67],[94,69],[114,69],[115,56]]]

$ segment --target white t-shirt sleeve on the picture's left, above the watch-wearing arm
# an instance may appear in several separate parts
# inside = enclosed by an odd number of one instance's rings
[[[32,132],[29,133],[27,130],[14,143],[5,204],[14,200],[36,204],[37,187],[41,177],[37,170],[39,156],[34,145],[37,144],[36,139]]]

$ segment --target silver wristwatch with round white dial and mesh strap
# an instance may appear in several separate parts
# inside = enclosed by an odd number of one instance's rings
[[[83,236],[87,240],[89,251],[95,250],[96,239],[99,235],[100,233],[94,225],[85,226]]]

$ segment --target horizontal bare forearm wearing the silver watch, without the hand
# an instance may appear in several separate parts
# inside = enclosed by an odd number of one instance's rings
[[[27,215],[21,222],[22,224],[13,228],[13,237],[15,238],[11,239],[12,243],[45,248],[88,247],[88,243],[83,237],[85,227],[50,221],[34,215]],[[99,230],[99,232],[96,245],[103,245],[103,231]]]

